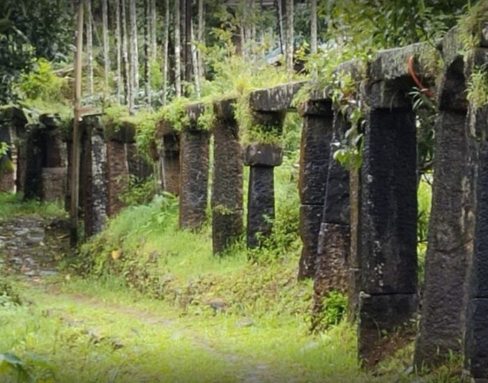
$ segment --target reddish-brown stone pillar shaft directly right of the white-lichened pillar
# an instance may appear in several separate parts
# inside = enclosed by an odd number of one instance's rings
[[[108,211],[113,217],[124,206],[120,196],[129,187],[129,166],[127,148],[121,141],[107,141]]]

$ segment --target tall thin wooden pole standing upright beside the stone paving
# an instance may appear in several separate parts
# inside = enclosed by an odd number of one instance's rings
[[[75,247],[78,240],[78,199],[79,199],[79,117],[82,100],[82,56],[83,56],[83,6],[79,1],[78,29],[75,62],[75,113],[73,118],[73,147],[71,150],[71,201],[70,201],[70,243]]]

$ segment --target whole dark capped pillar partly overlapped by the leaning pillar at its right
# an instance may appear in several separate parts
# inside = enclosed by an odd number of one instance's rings
[[[298,279],[313,278],[323,201],[326,196],[333,110],[328,100],[307,102],[300,109],[303,130],[300,143],[300,237],[303,242]]]

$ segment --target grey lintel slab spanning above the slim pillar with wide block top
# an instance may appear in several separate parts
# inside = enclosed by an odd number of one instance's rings
[[[291,106],[293,97],[304,84],[305,81],[296,81],[273,88],[253,91],[249,100],[250,107],[254,111],[287,111],[294,109]]]

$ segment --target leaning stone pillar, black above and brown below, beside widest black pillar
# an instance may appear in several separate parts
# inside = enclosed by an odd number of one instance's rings
[[[336,112],[333,142],[340,142],[349,127]],[[317,265],[314,278],[314,313],[319,320],[323,298],[331,291],[346,294],[349,281],[350,240],[349,170],[333,159],[330,151],[326,193],[317,239]]]

